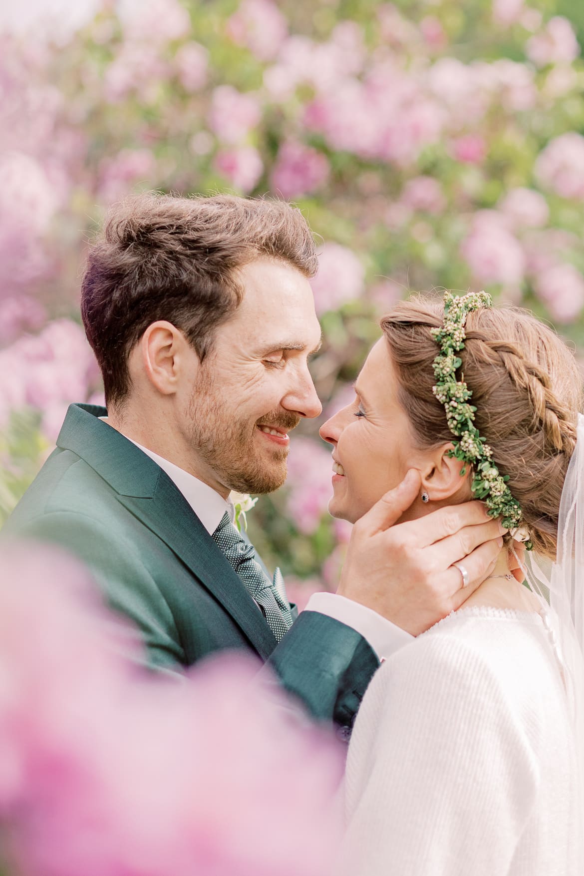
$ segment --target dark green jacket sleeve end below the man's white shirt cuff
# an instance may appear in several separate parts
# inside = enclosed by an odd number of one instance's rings
[[[313,718],[334,721],[348,738],[379,661],[350,626],[318,611],[303,611],[267,666]]]

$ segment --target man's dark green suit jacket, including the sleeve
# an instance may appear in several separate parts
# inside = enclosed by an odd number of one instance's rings
[[[142,633],[152,667],[210,653],[256,653],[313,717],[349,727],[376,654],[350,627],[304,611],[276,642],[241,579],[163,470],[98,417],[71,405],[57,440],[3,529],[48,541],[90,569],[110,606]]]

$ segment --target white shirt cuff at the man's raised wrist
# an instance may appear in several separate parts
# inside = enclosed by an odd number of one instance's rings
[[[352,627],[369,642],[380,661],[386,660],[414,639],[409,632],[392,624],[391,620],[383,618],[373,609],[341,597],[338,593],[313,593],[306,605],[306,611],[320,611],[320,614],[326,614],[329,618]]]

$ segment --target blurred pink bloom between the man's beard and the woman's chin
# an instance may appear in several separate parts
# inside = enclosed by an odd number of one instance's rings
[[[313,533],[333,495],[332,460],[324,444],[295,438],[288,456],[287,510],[301,533]]]

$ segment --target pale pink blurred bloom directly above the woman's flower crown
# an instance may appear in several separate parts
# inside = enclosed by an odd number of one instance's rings
[[[461,244],[461,255],[480,283],[517,286],[524,279],[524,251],[496,210],[475,214],[470,233]]]

